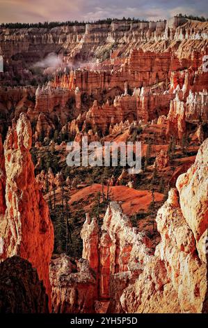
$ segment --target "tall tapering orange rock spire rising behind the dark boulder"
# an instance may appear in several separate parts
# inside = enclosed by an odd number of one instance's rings
[[[29,260],[50,295],[49,261],[54,248],[54,229],[49,208],[35,181],[30,154],[31,125],[26,114],[20,114],[17,124],[9,129],[4,142],[4,181],[0,200],[5,211],[0,214],[0,236],[3,239],[4,260],[19,255]],[[2,180],[1,180],[2,181]]]

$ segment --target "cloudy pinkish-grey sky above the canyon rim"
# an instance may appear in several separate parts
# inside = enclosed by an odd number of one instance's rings
[[[207,0],[0,0],[0,23],[93,21],[106,17],[162,20],[177,13],[208,17]]]

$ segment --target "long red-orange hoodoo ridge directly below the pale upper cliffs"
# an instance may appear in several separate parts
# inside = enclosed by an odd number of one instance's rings
[[[174,71],[187,68],[198,70],[202,65],[202,56],[206,53],[207,47],[201,52],[198,49],[186,59],[183,53],[177,54],[175,50],[159,52],[154,48],[150,51],[133,47],[124,62],[124,58],[118,59],[120,65],[117,64],[116,67],[114,64],[105,67],[104,63],[100,63],[99,67],[94,69],[70,70],[69,74],[56,76],[51,85],[70,90],[79,87],[82,92],[93,96],[113,88],[124,91],[125,84],[131,90],[135,87],[148,87],[166,82]]]

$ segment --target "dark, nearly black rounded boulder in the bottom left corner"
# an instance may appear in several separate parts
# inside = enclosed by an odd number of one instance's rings
[[[37,270],[13,256],[0,263],[0,313],[48,313],[48,297]]]

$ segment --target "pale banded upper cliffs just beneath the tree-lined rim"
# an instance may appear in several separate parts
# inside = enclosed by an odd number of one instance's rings
[[[97,59],[104,61],[113,51],[117,57],[126,56],[140,46],[151,51],[176,48],[189,58],[193,50],[207,47],[207,23],[172,17],[163,22],[112,22],[52,29],[1,27],[0,49],[5,67],[1,75],[8,83],[29,82],[33,79],[33,64],[51,52],[56,52],[65,66],[76,67],[77,62],[91,61],[95,53]]]

